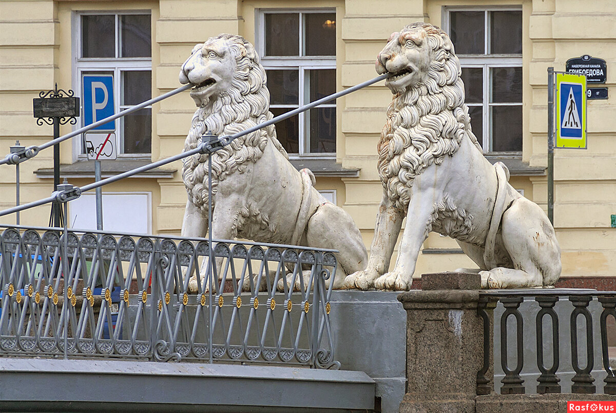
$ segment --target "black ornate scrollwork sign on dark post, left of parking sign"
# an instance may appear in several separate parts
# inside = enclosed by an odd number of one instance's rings
[[[66,95],[66,96],[65,96]],[[73,90],[65,92],[58,89],[58,84],[55,84],[54,90],[47,92],[39,92],[39,97],[33,99],[34,118],[39,126],[46,123],[54,126],[54,139],[60,137],[60,125],[70,122],[71,125],[77,123],[79,116],[79,98],[73,97]],[[54,145],[54,191],[58,189],[60,184],[60,144]],[[62,225],[62,211],[60,204],[53,202],[51,204],[51,216],[49,217],[49,225],[60,227]]]

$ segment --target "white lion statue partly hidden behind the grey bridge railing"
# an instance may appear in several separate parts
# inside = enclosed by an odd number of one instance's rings
[[[190,96],[198,106],[185,151],[196,148],[206,133],[232,135],[273,117],[265,70],[241,36],[220,34],[197,44],[179,79],[195,85]],[[310,170],[298,172],[291,165],[274,125],[237,138],[211,156],[214,239],[337,249],[338,271],[344,275],[336,276],[334,288],[347,274],[365,268],[368,254],[351,216],[315,190]],[[208,155],[185,158],[182,178],[188,192],[182,236],[206,236]],[[189,288],[197,291],[196,278]]]

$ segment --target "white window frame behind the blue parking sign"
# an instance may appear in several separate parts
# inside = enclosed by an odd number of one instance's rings
[[[81,57],[82,53],[82,16],[85,15],[113,15],[115,16],[115,57]],[[119,9],[119,10],[73,10],[71,15],[71,48],[73,55],[73,90],[75,96],[81,98],[82,76],[84,72],[111,72],[113,73],[113,92],[114,92],[114,112],[119,113],[121,110],[131,108],[134,105],[126,105],[124,102],[124,90],[122,73],[125,71],[149,71],[150,85],[152,85],[152,50],[150,57],[119,57],[121,49],[121,28],[120,18],[123,15],[148,15],[150,16],[150,38],[152,38],[152,10],[149,9]],[[150,46],[152,47],[152,46]],[[152,87],[153,90],[153,87]],[[151,97],[150,97],[151,98]],[[152,113],[152,122],[154,114],[152,105],[145,106]],[[78,129],[83,126],[83,98],[81,99],[80,119],[73,127]],[[152,158],[152,146],[147,153],[124,153],[124,117],[116,119],[116,153],[118,160],[120,159],[150,159]],[[120,133],[120,130],[122,133]],[[152,135],[154,127],[152,124]],[[81,161],[87,159],[87,155],[83,148],[83,139],[73,140],[73,161]]]

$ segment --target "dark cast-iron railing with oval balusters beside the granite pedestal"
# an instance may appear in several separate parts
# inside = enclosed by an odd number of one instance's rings
[[[616,373],[610,367],[608,343],[608,318],[612,316],[616,322],[616,292],[594,291],[584,289],[559,290],[520,290],[520,291],[482,291],[478,307],[479,316],[484,321],[484,365],[477,373],[477,394],[487,395],[494,391],[492,380],[488,372],[493,371],[490,366],[492,355],[491,319],[496,303],[500,302],[504,311],[500,320],[500,348],[495,348],[495,355],[500,355],[500,364],[505,376],[501,380],[500,393],[503,395],[524,394],[526,388],[521,375],[524,371],[532,371],[537,367],[537,393],[561,393],[561,378],[559,367],[562,369],[562,360],[565,354],[561,349],[570,348],[570,366],[575,374],[571,378],[571,393],[606,393],[616,395]],[[526,302],[525,302],[526,299]],[[533,303],[535,302],[535,303]],[[525,314],[522,315],[521,305],[525,303]],[[593,311],[589,311],[592,305]],[[556,308],[557,307],[557,308]],[[559,317],[559,313],[561,316]],[[594,313],[594,318],[593,318]],[[600,313],[600,314],[599,314]],[[566,321],[569,334],[563,335]],[[511,317],[511,319],[510,319]],[[580,318],[583,322],[580,323]],[[597,319],[598,318],[598,319]],[[525,319],[527,324],[525,326]],[[509,323],[514,321],[514,323]],[[562,323],[561,323],[562,321]],[[595,346],[593,325],[599,324],[601,340],[601,367],[606,377],[604,385],[593,384],[595,379],[591,372],[595,366]],[[561,326],[561,324],[564,324]],[[513,331],[511,331],[513,328]],[[534,337],[533,337],[534,336]],[[509,338],[515,338],[514,344],[509,346]],[[533,337],[535,345],[530,342]],[[581,337],[581,338],[580,338]],[[563,342],[567,340],[567,343]],[[565,344],[565,345],[564,345]],[[614,343],[612,345],[615,345]],[[536,355],[536,364],[524,367],[525,351]],[[585,360],[580,363],[579,357]],[[546,362],[546,358],[548,361]],[[526,357],[528,360],[528,357]],[[513,361],[513,363],[511,363]],[[548,367],[549,366],[549,367]],[[494,366],[495,367],[495,366]],[[524,369],[524,371],[523,371]],[[598,389],[599,387],[599,389]]]

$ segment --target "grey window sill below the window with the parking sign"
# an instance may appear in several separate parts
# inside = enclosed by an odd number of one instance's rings
[[[122,159],[116,161],[100,162],[101,176],[103,178],[128,172],[131,169],[150,164],[150,159]],[[172,178],[177,169],[157,167],[134,175],[134,178]],[[34,171],[37,178],[54,178],[53,168],[41,168]],[[62,178],[94,178],[94,161],[77,161],[74,164],[60,164],[60,177]]]

